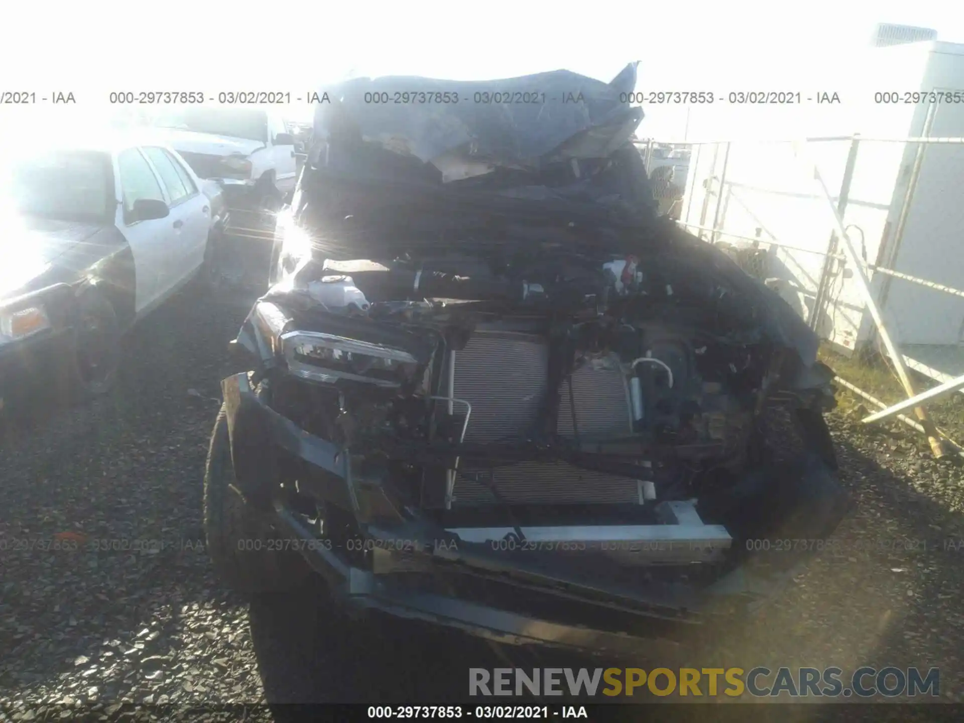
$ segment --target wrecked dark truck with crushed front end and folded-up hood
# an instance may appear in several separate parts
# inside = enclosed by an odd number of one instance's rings
[[[833,374],[657,217],[635,79],[329,91],[211,440],[228,583],[629,652],[759,607],[800,562],[766,542],[834,530]],[[372,102],[402,91],[429,101]]]

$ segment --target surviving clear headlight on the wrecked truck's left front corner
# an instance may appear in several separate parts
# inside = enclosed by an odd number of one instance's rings
[[[281,348],[292,374],[325,384],[346,379],[400,387],[418,369],[415,357],[401,349],[319,332],[283,334]]]

